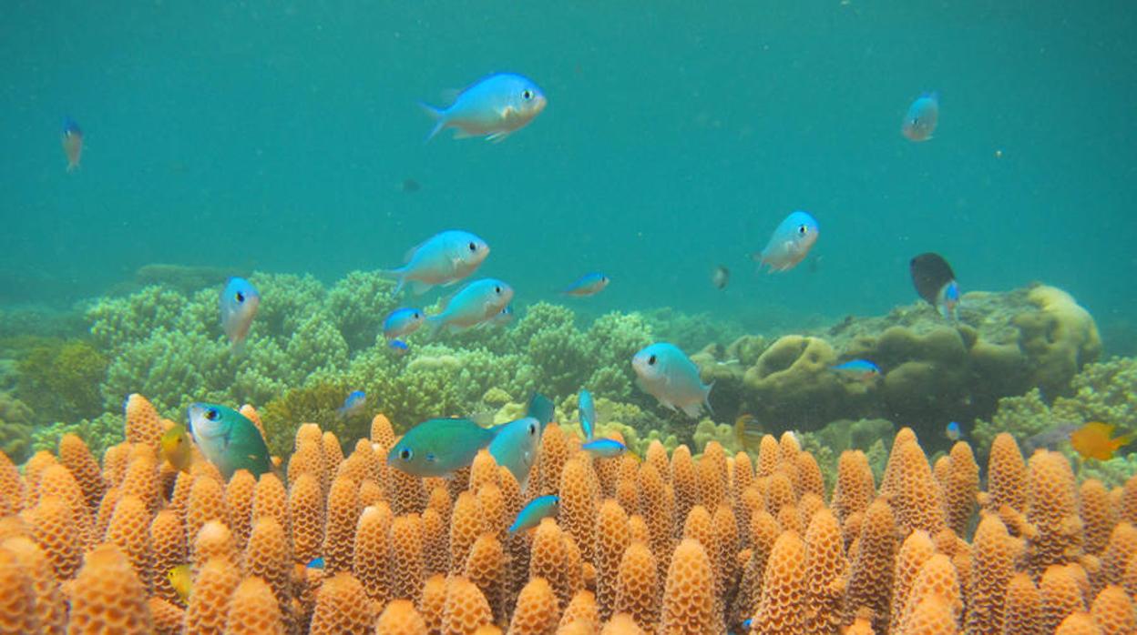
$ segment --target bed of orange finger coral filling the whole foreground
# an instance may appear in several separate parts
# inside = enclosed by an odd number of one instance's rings
[[[151,490],[160,421],[140,395],[127,412],[134,441],[101,457],[76,436],[23,470],[0,457],[5,632],[1137,628],[1137,477],[1079,482],[1065,456],[1024,457],[1011,435],[961,441],[932,466],[903,428],[879,485],[850,451],[828,494],[794,435],[754,456],[709,441],[604,463],[550,425],[521,487],[488,453],[449,481],[388,467],[398,437],[379,416],[359,443],[299,426],[284,479],[226,483],[199,460]],[[989,457],[982,478],[976,456]],[[559,517],[506,532],[550,493]],[[169,586],[184,563],[188,595]]]

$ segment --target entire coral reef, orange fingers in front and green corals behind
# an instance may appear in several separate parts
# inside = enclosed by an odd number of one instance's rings
[[[185,274],[93,301],[86,336],[0,341],[0,632],[1137,632],[1137,466],[1053,434],[1137,428],[1137,360],[1101,361],[1059,289],[781,335],[541,302],[399,356],[379,274],[251,275],[241,352]],[[636,385],[663,340],[714,382],[698,419]],[[835,371],[856,359],[879,376]],[[582,387],[623,456],[581,450]],[[556,410],[524,487],[484,450],[449,477],[388,465],[415,424],[511,421],[534,391]],[[240,408],[274,467],[174,467],[199,401]],[[509,532],[542,495],[557,512]]]

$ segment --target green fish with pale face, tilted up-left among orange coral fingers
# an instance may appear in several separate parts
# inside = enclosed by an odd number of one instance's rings
[[[272,470],[268,446],[244,415],[216,403],[192,403],[189,421],[194,443],[226,481],[239,469],[252,476]]]

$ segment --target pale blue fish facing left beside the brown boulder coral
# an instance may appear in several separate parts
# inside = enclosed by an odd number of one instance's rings
[[[691,418],[704,408],[711,411],[714,383],[704,384],[698,367],[674,344],[658,342],[645,348],[632,358],[632,368],[640,388],[661,404]]]

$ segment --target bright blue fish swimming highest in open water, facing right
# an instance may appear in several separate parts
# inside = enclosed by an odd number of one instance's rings
[[[455,139],[483,136],[499,142],[529,125],[545,105],[545,94],[532,80],[498,73],[458,93],[449,108],[421,106],[437,122],[426,141],[446,128],[455,128]]]

